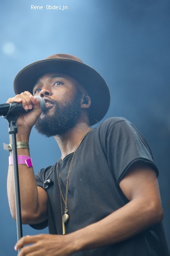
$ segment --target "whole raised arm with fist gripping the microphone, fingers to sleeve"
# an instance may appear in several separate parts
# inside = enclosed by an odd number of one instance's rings
[[[13,101],[18,103],[21,102],[25,110],[31,110],[33,108],[31,112],[22,114],[17,119],[18,133],[16,134],[16,140],[29,142],[32,126],[41,114],[39,101],[29,92],[16,95],[14,98],[10,98],[7,103],[11,103]],[[12,152],[10,154],[12,155]],[[28,148],[17,148],[17,154],[30,156]],[[22,223],[33,224],[41,222],[47,218],[46,192],[40,187],[37,188],[34,170],[32,167],[28,168],[26,164],[18,164],[18,171]],[[12,165],[9,166],[7,190],[11,215],[16,219]]]

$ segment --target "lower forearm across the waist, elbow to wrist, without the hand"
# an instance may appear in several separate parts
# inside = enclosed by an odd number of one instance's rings
[[[103,220],[69,234],[76,251],[115,244],[141,232],[162,219],[161,207],[136,199]],[[73,242],[74,241],[74,242]]]

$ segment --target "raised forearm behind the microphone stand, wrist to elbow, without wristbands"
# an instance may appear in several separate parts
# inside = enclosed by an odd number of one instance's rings
[[[28,142],[29,136],[16,136],[17,141]],[[12,152],[10,153],[12,155]],[[30,156],[28,148],[17,148],[17,155]],[[38,206],[37,185],[32,167],[28,168],[26,164],[18,164],[19,172],[19,188],[21,201],[22,217],[26,216],[27,212],[30,215],[35,214]],[[12,217],[15,219],[15,195],[14,195],[14,179],[13,179],[13,165],[9,166],[8,180],[7,180],[8,199]]]

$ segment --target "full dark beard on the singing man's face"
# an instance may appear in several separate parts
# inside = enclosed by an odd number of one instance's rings
[[[71,101],[63,101],[59,104],[56,100],[54,103],[54,114],[39,117],[35,123],[35,129],[38,133],[45,135],[47,138],[64,134],[75,126],[81,115],[81,98],[82,92],[77,90],[76,95]]]

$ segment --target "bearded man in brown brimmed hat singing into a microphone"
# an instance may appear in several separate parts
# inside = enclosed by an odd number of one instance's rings
[[[23,237],[19,255],[169,255],[161,224],[158,169],[148,143],[125,118],[106,114],[110,94],[98,72],[80,59],[56,54],[23,68],[15,77],[25,110],[17,119],[22,222],[50,234]],[[39,101],[45,100],[45,110]],[[61,158],[34,177],[29,136],[33,125],[54,136]],[[22,143],[22,144],[23,144]],[[19,144],[19,143],[18,143]],[[12,157],[8,198],[15,219]],[[64,234],[64,235],[63,235]]]

